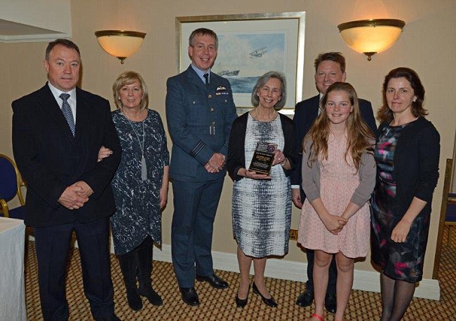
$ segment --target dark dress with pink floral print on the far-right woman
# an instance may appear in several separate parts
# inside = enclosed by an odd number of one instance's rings
[[[383,273],[395,280],[417,282],[422,278],[422,266],[427,238],[420,237],[429,228],[429,216],[415,218],[404,243],[391,240],[391,232],[402,216],[393,211],[396,197],[394,152],[398,137],[407,124],[385,126],[375,148],[377,185],[373,195],[372,259]],[[424,239],[424,240],[423,240]]]

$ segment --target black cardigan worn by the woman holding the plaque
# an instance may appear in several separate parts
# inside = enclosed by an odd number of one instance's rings
[[[288,177],[292,170],[295,168],[297,161],[299,161],[299,154],[295,149],[296,140],[296,128],[295,123],[282,114],[279,114],[282,123],[283,138],[285,146],[283,147],[283,154],[288,158],[291,169],[285,170],[285,175]],[[247,119],[248,112],[236,118],[232,125],[232,131],[229,135],[229,147],[227,156],[227,170],[229,177],[234,181],[243,179],[243,176],[238,175],[240,168],[246,167],[246,155],[245,155],[245,141],[246,141],[246,130],[247,130]]]

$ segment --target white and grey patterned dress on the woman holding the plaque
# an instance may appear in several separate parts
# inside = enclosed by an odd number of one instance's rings
[[[256,121],[248,115],[245,153],[249,168],[257,142],[277,144],[285,141],[280,117]],[[271,168],[271,179],[240,179],[233,187],[233,231],[244,254],[250,257],[284,255],[288,252],[291,224],[291,186],[281,165]]]

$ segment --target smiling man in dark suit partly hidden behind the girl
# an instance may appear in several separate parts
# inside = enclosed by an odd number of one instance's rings
[[[321,97],[326,93],[328,87],[337,81],[345,81],[347,73],[345,72],[345,58],[342,53],[321,53],[315,60],[315,84],[318,89],[318,95],[311,97],[302,102],[298,102],[295,107],[295,121],[297,130],[297,142],[302,144],[302,139],[307,134],[311,125],[314,123],[319,114]],[[372,110],[372,105],[367,100],[359,100],[359,109],[364,121],[373,131],[374,135],[377,132],[377,125]],[[302,147],[300,147],[302,150]],[[304,203],[305,195],[302,191],[302,174],[301,174],[302,158],[297,164],[296,169],[291,175],[292,184],[292,199],[296,207],[301,208]],[[306,250],[307,254],[307,285],[306,290],[297,297],[296,304],[298,306],[310,306],[314,301],[314,251]],[[325,308],[328,312],[335,313],[336,310],[336,280],[337,267],[335,259],[331,261],[329,269],[328,289],[326,292]]]

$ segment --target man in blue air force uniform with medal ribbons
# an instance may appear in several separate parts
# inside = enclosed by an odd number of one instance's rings
[[[211,245],[236,107],[227,79],[210,71],[217,46],[215,32],[194,30],[188,48],[192,64],[166,83],[166,120],[173,140],[171,252],[182,300],[190,306],[199,306],[195,278],[216,289],[228,287],[213,271]]]

